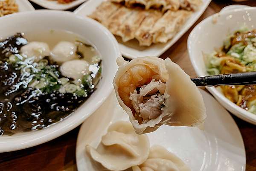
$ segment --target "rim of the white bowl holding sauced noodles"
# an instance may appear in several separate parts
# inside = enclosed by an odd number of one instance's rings
[[[192,55],[193,49],[190,46],[190,44],[193,43],[192,36],[195,35],[196,30],[198,30],[200,27],[203,27],[204,25],[207,25],[209,22],[212,22],[212,19],[214,17],[219,17],[220,14],[222,16],[227,16],[230,14],[233,14],[234,12],[245,12],[245,11],[253,11],[256,7],[245,7],[241,9],[231,9],[227,11],[221,11],[215,14],[212,14],[211,16],[205,18],[200,23],[198,23],[190,32],[188,40],[187,40],[187,49],[189,54],[189,59],[191,61],[191,64],[196,72],[196,75],[198,76],[205,76],[199,71],[199,66],[197,65],[196,61],[194,60],[194,56]],[[207,90],[209,90],[210,93],[219,101],[221,102],[221,105],[223,105],[227,110],[229,110],[234,115],[240,117],[241,119],[250,122],[252,124],[256,125],[256,114],[250,113],[247,110],[244,110],[243,108],[237,106],[233,102],[231,102],[229,99],[227,99],[222,93],[220,93],[215,87],[206,87]],[[223,104],[224,103],[224,104]]]

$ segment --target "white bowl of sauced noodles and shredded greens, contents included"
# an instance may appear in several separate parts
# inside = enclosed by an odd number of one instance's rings
[[[214,14],[188,38],[189,57],[198,76],[256,71],[256,8]],[[256,125],[256,85],[207,87],[231,113]]]

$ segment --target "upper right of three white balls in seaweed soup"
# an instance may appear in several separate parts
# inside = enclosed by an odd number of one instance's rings
[[[59,42],[51,52],[52,61],[62,64],[63,62],[75,59],[76,56],[76,45],[69,41]]]

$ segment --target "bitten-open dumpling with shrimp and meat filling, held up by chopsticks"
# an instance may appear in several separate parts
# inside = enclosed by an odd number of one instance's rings
[[[163,124],[203,125],[206,109],[198,88],[169,58],[118,58],[117,63],[116,98],[136,133],[152,132]]]

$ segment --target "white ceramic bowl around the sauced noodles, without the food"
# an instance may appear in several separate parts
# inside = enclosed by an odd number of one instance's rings
[[[242,8],[222,11],[201,21],[190,33],[188,38],[189,57],[198,76],[207,75],[203,55],[212,53],[215,48],[223,46],[229,33],[246,25],[249,29],[256,27],[256,8]],[[256,125],[256,115],[228,100],[215,87],[207,87],[212,95],[231,113]]]

